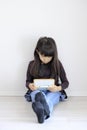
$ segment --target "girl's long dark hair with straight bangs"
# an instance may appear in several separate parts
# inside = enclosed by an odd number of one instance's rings
[[[51,77],[54,78],[56,74],[60,75],[58,52],[57,52],[57,47],[54,39],[51,37],[41,37],[38,40],[36,48],[34,50],[34,63],[31,69],[31,74],[34,77],[38,77],[38,72],[41,64],[37,52],[39,52],[44,56],[52,56],[52,60],[50,61]]]

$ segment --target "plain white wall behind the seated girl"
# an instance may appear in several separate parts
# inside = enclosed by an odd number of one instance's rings
[[[41,36],[57,43],[68,95],[87,96],[86,0],[0,0],[0,95],[24,95],[28,62]]]

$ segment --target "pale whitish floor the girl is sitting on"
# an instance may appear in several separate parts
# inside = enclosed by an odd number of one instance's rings
[[[31,103],[24,97],[0,97],[0,130],[29,129],[87,129],[87,97],[69,97],[60,102],[43,124],[37,122]]]

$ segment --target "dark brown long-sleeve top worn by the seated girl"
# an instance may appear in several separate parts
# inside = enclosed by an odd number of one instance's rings
[[[30,74],[31,67],[33,65],[34,61],[30,61],[27,69],[27,74],[26,74],[26,87],[29,89],[29,83],[33,83],[33,79],[35,79],[34,76]],[[62,90],[66,89],[69,85],[69,81],[66,76],[66,72],[64,70],[64,67],[62,63],[59,61],[60,65],[60,76],[55,74],[55,84],[61,85]],[[38,78],[50,78],[51,76],[51,69],[50,69],[50,64],[41,64],[39,68],[39,77]],[[60,80],[59,80],[60,79]]]

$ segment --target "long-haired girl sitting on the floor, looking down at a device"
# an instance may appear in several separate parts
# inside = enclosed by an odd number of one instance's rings
[[[38,89],[33,83],[34,79],[50,78],[55,80],[55,85],[47,89]],[[50,117],[53,107],[59,101],[67,98],[64,89],[68,85],[65,70],[58,59],[54,39],[50,37],[40,38],[34,51],[34,60],[28,66],[26,76],[28,92],[25,94],[27,101],[32,101],[32,108],[39,123],[43,123],[45,119]]]

